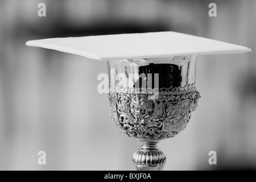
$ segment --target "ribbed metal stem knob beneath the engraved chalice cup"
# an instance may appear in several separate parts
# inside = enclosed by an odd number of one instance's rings
[[[137,171],[162,171],[166,155],[156,146],[159,140],[141,140],[142,147],[133,154],[133,163]]]

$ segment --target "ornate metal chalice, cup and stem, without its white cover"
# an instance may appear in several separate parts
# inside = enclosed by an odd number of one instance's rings
[[[195,85],[196,55],[107,64],[112,120],[121,133],[142,143],[133,155],[135,167],[163,169],[166,156],[156,144],[185,129],[200,98]]]

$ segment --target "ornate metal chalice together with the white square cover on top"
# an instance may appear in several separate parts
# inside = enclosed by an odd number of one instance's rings
[[[156,145],[184,130],[196,109],[197,55],[251,51],[177,32],[42,39],[27,46],[107,62],[112,120],[142,143],[133,155],[137,170],[163,169],[166,155]]]

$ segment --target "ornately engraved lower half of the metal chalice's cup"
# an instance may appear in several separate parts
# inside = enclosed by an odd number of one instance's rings
[[[118,129],[129,137],[160,140],[174,137],[187,126],[196,109],[199,92],[159,92],[155,100],[148,93],[109,93],[110,115]]]

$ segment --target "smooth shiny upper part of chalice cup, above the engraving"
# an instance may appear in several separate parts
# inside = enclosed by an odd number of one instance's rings
[[[107,64],[110,85],[122,88],[156,88],[154,75],[159,75],[159,79],[156,80],[159,83],[157,86],[159,89],[181,88],[183,90],[186,86],[195,84],[195,55],[141,60],[111,60]],[[140,79],[142,76],[144,76],[143,80]],[[139,87],[135,87],[137,82],[139,82]],[[150,82],[152,85],[148,84]]]

